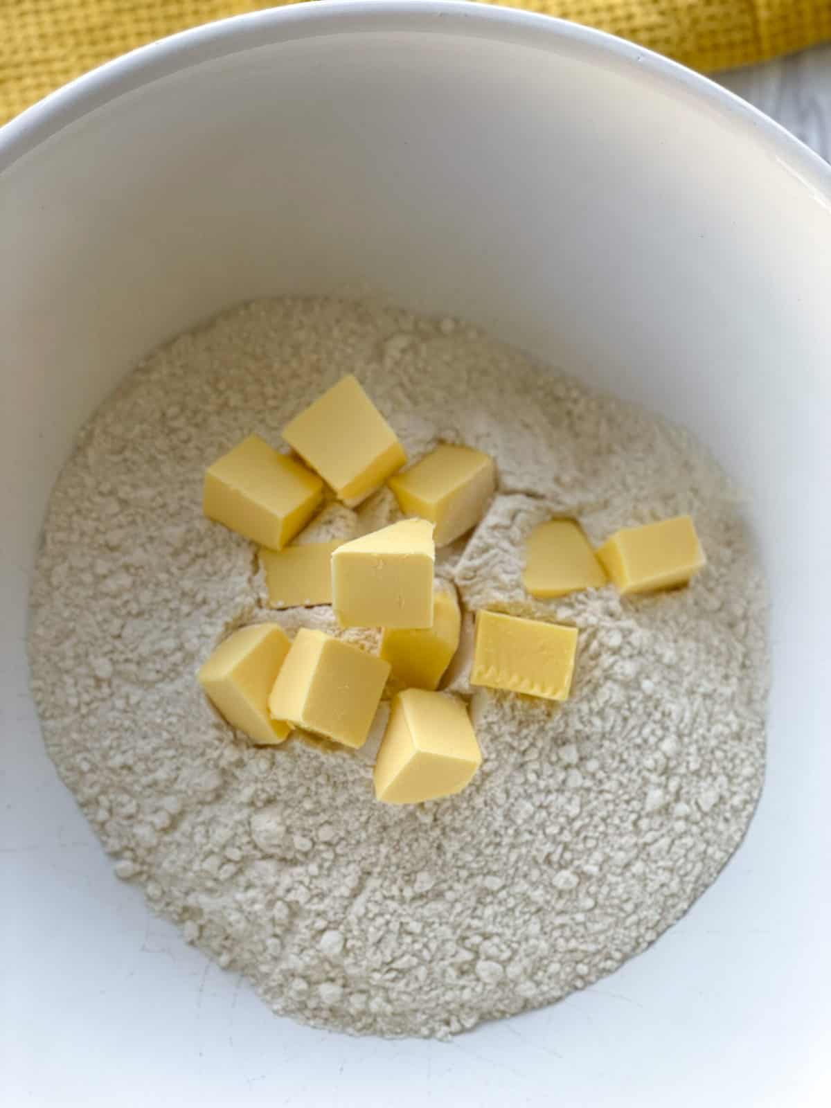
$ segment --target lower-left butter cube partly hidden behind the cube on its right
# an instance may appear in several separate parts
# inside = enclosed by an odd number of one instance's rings
[[[203,689],[230,726],[266,746],[283,742],[291,730],[268,711],[268,695],[289,645],[276,624],[243,627],[217,646],[198,673]]]

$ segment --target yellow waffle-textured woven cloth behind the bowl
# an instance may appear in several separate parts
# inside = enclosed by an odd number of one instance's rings
[[[275,0],[0,0],[0,123],[134,47],[274,6]],[[512,6],[598,27],[700,70],[745,65],[831,39],[831,0],[513,0]]]

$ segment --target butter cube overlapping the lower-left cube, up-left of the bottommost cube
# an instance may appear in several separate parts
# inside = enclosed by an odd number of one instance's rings
[[[389,674],[382,658],[301,627],[274,684],[268,710],[275,719],[357,749],[366,742]]]

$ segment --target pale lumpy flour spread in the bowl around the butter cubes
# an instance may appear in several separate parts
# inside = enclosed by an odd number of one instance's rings
[[[562,706],[473,691],[455,667],[484,760],[447,801],[378,804],[366,752],[254,749],[195,678],[250,620],[335,630],[328,608],[264,611],[252,546],[203,519],[201,493],[218,454],[250,432],[279,444],[352,371],[411,459],[440,440],[496,459],[488,516],[441,558],[464,603],[581,630]],[[599,541],[678,512],[709,557],[689,588],[520,586],[552,513]],[[381,526],[394,502],[359,516]],[[85,428],[49,506],[30,654],[61,777],[188,942],[278,1013],[447,1037],[611,973],[715,880],[762,783],[766,622],[733,493],[685,432],[449,320],[280,299],[157,351]]]

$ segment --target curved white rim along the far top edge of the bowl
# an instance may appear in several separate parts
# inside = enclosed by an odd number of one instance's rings
[[[318,0],[233,16],[138,47],[50,93],[0,127],[0,174],[96,109],[204,62],[296,39],[356,32],[454,32],[570,53],[645,81],[683,90],[768,146],[831,212],[831,165],[735,93],[693,70],[613,34],[517,8],[469,0]]]

